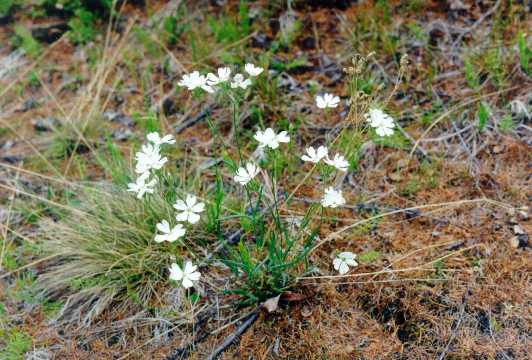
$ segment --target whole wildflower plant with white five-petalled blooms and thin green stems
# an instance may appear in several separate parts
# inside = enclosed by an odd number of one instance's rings
[[[313,264],[309,261],[309,254],[318,246],[315,238],[322,224],[347,203],[342,189],[335,184],[340,174],[354,165],[350,162],[356,149],[375,133],[377,136],[393,134],[393,119],[382,110],[386,101],[370,106],[369,102],[375,94],[369,96],[356,88],[366,61],[367,58],[357,56],[353,59],[353,66],[344,69],[352,91],[348,102],[350,111],[342,130],[334,139],[329,136],[329,112],[330,108],[342,106],[343,103],[335,95],[317,96],[317,111],[325,111],[327,116],[327,143],[318,147],[309,146],[305,154],[288,160],[307,164],[300,165],[301,169],[311,166],[295,188],[288,188],[281,183],[276,173],[279,154],[287,153],[287,144],[295,140],[291,129],[256,130],[253,136],[255,146],[262,148],[266,155],[259,167],[257,159],[245,153],[240,138],[242,129],[237,128],[238,104],[244,101],[244,95],[253,87],[255,78],[261,76],[263,68],[249,63],[244,66],[243,72],[223,67],[215,73],[204,75],[200,71],[194,71],[182,77],[178,85],[186,87],[203,110],[204,97],[209,94],[220,93],[232,104],[237,153],[230,152],[229,144],[225,143],[209,112],[205,111],[213,136],[214,194],[222,194],[223,185],[228,185],[229,181],[237,188],[236,194],[245,197],[245,203],[239,201],[242,204],[240,209],[233,209],[234,213],[227,215],[221,210],[223,196],[209,197],[208,194],[203,194],[202,197],[202,194],[177,190],[171,180],[172,169],[168,165],[168,158],[161,154],[163,147],[172,146],[175,140],[172,135],[160,136],[157,132],[147,135],[147,140],[151,143],[143,145],[142,151],[136,153],[135,172],[139,177],[136,183],[128,185],[128,191],[135,191],[139,201],[151,210],[152,222],[156,224],[153,241],[170,245],[169,249],[173,254],[169,255],[172,255],[175,262],[168,267],[169,279],[174,284],[186,289],[196,286],[202,281],[201,272],[196,269],[203,264],[202,266],[210,266],[227,276],[231,285],[222,292],[238,294],[243,297],[243,303],[248,304],[282,291],[298,276],[316,266],[334,266],[334,269],[345,274],[349,271],[349,266],[357,265],[354,261],[356,255],[351,252],[338,254],[336,250],[334,254],[338,258],[334,262],[330,263],[326,257]],[[403,57],[400,76],[405,66],[406,58]],[[247,76],[244,77],[244,74]],[[381,89],[380,87],[378,90]],[[354,126],[348,126],[350,124]],[[219,146],[225,150],[220,165]],[[299,162],[300,159],[302,163]],[[222,167],[226,167],[225,170],[222,171]],[[229,179],[222,176],[222,172],[227,173],[227,169]],[[321,196],[311,199],[303,215],[297,216],[296,221],[295,214],[301,198],[294,197],[294,194],[304,194],[314,171],[323,179]],[[154,191],[161,192],[162,196],[154,197]],[[155,198],[164,199],[166,204],[152,206]],[[167,210],[160,211],[161,208]],[[173,217],[168,216],[171,213],[174,214]],[[236,246],[229,245],[223,235],[228,230],[225,229],[225,220],[229,219],[239,220],[242,227],[240,230],[244,230]],[[200,232],[197,229],[202,225],[217,239],[214,244],[198,235]],[[221,251],[215,251],[220,248],[217,245],[222,246]]]

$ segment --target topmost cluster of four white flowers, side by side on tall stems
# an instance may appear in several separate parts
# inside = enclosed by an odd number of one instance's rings
[[[244,66],[244,70],[250,74],[251,77],[255,77],[259,75],[261,72],[264,71],[264,68],[257,68],[253,64],[246,64]],[[183,75],[183,78],[181,81],[177,83],[179,86],[186,86],[189,90],[194,89],[203,89],[207,91],[207,93],[214,93],[214,89],[212,88],[215,85],[222,85],[226,84],[229,81],[229,77],[231,74],[230,68],[219,68],[218,74],[214,74],[212,72],[208,73],[207,76],[200,75],[199,71],[194,71],[190,75]],[[236,74],[232,78],[232,82],[230,82],[229,86],[232,89],[235,88],[242,88],[247,89],[252,85],[252,81],[250,78],[244,79],[243,74]]]

